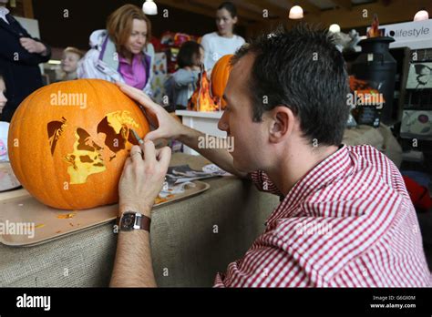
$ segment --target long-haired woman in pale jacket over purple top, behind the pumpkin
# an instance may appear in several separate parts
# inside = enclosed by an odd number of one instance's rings
[[[135,5],[123,5],[109,15],[106,30],[90,36],[91,49],[78,66],[79,78],[126,83],[151,96],[154,59],[149,18]]]

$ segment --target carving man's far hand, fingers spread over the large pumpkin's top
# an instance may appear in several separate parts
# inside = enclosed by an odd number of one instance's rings
[[[128,85],[117,83],[121,91],[126,95],[139,102],[146,110],[146,116],[149,118],[150,124],[157,128],[149,132],[144,138],[145,141],[157,140],[159,138],[179,138],[184,126],[163,107],[159,106],[149,96],[144,94],[141,90],[130,87]]]

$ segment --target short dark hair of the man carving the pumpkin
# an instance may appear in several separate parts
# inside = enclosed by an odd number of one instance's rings
[[[331,34],[307,25],[279,26],[242,46],[231,63],[249,53],[255,57],[248,80],[253,121],[260,122],[264,111],[286,106],[300,119],[304,138],[338,146],[349,114],[348,76]]]

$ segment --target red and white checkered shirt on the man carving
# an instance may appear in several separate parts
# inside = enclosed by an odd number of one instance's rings
[[[283,196],[262,171],[252,180]],[[398,169],[344,146],[300,179],[215,287],[430,287],[416,210]]]

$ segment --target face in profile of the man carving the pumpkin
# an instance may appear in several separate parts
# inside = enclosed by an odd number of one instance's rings
[[[247,83],[252,70],[254,56],[243,56],[232,67],[225,88],[227,107],[223,112],[218,128],[234,138],[234,167],[243,172],[261,169],[265,161],[265,145],[268,133],[265,125],[252,121],[252,100]],[[267,153],[270,154],[270,153]]]

